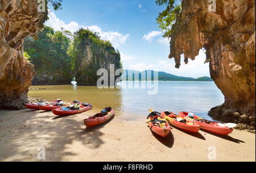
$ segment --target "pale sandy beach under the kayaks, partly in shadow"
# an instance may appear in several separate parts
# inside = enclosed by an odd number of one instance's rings
[[[83,119],[94,110],[67,117],[44,111],[0,111],[0,161],[255,161],[255,134],[229,136],[172,128],[167,138],[153,134],[144,120],[115,116],[95,128]],[[146,115],[145,115],[146,116]],[[40,146],[46,159],[38,159]],[[216,159],[209,159],[216,150]]]

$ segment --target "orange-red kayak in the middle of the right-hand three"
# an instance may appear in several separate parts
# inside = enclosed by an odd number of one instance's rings
[[[168,115],[166,115],[168,114]],[[200,130],[200,125],[197,125],[196,123],[193,123],[193,121],[187,121],[186,123],[181,123],[177,121],[177,115],[173,112],[162,112],[161,116],[166,119],[168,123],[170,123],[173,126],[176,126],[177,128],[186,130],[191,133],[197,133]]]

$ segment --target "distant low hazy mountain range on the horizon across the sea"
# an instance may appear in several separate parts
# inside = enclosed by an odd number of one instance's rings
[[[151,78],[149,80],[154,79],[153,70],[145,70],[145,71],[137,71],[137,70],[125,70],[125,74],[122,75],[122,81],[146,81],[148,73],[151,71]],[[134,80],[134,78],[137,78]],[[200,77],[200,78],[188,78],[188,77],[180,77],[177,75],[169,74],[163,71],[158,72],[158,81],[213,81],[212,78],[209,77]]]

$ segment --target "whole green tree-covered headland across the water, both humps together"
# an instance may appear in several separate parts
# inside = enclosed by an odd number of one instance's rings
[[[94,83],[98,69],[109,70],[109,64],[121,67],[118,50],[88,29],[73,35],[45,26],[38,39],[25,39],[24,51],[27,60],[35,65],[34,84],[69,83],[73,77],[80,83]]]

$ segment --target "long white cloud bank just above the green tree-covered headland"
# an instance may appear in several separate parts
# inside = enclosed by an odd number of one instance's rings
[[[82,26],[77,22],[70,22],[68,24],[65,24],[63,20],[60,20],[59,18],[56,17],[54,12],[49,12],[49,20],[47,20],[46,25],[49,27],[52,27],[55,29],[55,31],[60,31],[61,28],[63,27],[65,30],[76,32],[80,28],[88,28],[92,32],[98,32],[99,36],[103,40],[108,40],[110,41],[114,47],[119,47],[120,44],[124,44],[128,37],[130,36],[129,34],[123,35],[122,33],[119,32],[104,32],[102,29],[96,25],[93,26]]]

